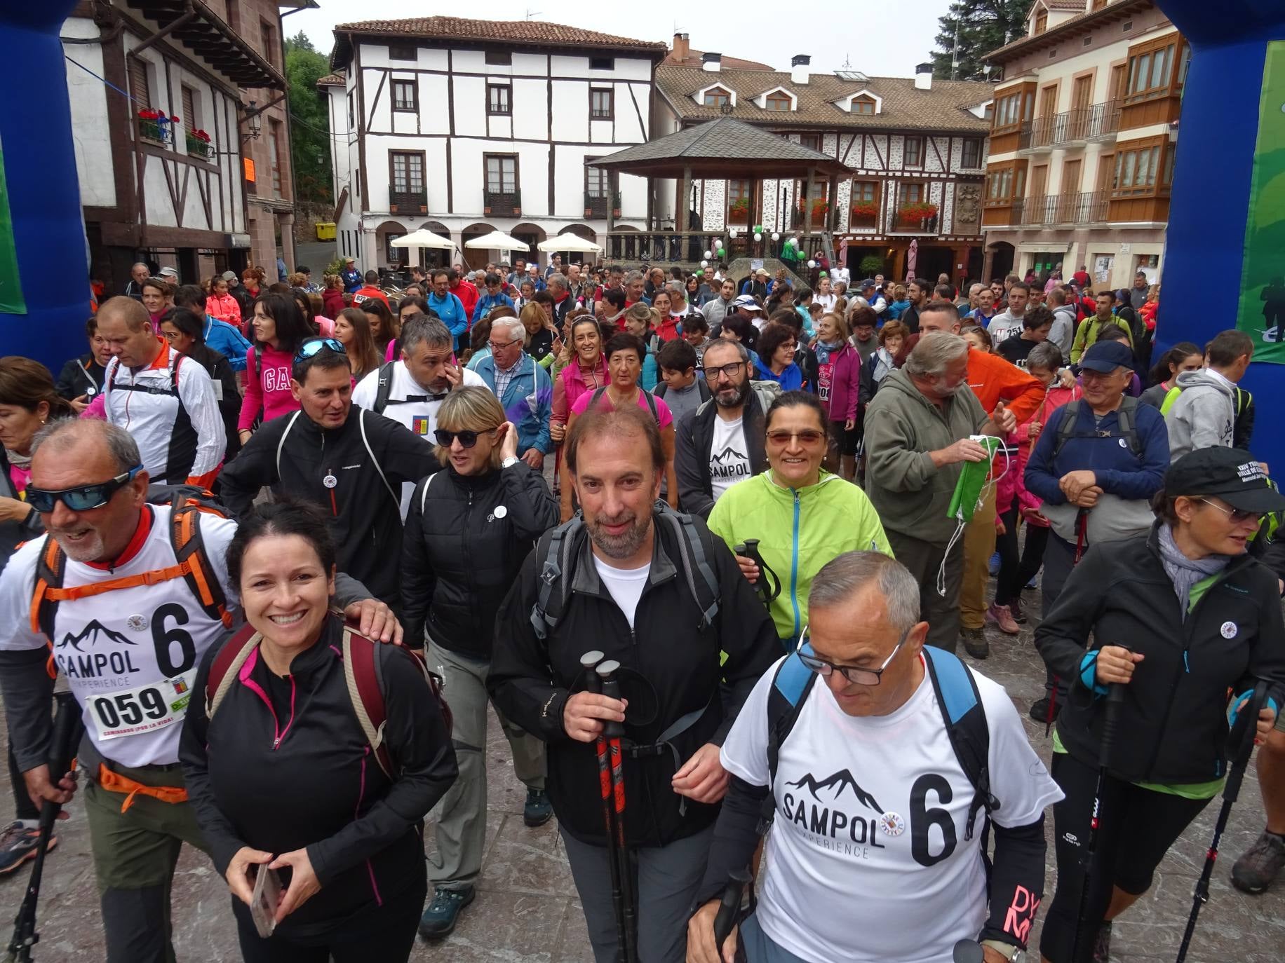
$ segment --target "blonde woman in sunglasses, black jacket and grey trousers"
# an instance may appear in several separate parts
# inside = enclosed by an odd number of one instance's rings
[[[518,430],[486,388],[456,388],[437,410],[445,471],[411,496],[402,539],[402,612],[411,646],[451,693],[460,778],[442,801],[429,877],[437,889],[420,932],[446,936],[473,901],[486,847],[486,679],[495,614],[532,543],[558,524],[558,502],[518,458]],[[549,820],[544,745],[500,716],[513,768],[527,786],[527,826]]]

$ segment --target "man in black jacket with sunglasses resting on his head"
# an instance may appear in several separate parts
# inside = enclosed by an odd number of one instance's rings
[[[240,517],[269,487],[320,506],[330,517],[339,568],[396,609],[400,485],[441,464],[423,438],[352,404],[352,363],[333,338],[305,342],[290,374],[299,411],[266,421],[224,467],[224,503]]]

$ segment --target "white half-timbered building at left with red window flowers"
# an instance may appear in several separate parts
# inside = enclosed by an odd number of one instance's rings
[[[229,0],[258,8],[249,0]],[[279,22],[275,4],[263,12]],[[240,270],[254,248],[243,91],[284,96],[279,65],[226,9],[82,3],[63,24],[90,273],[118,294],[136,261],[184,282]],[[269,245],[262,256],[275,262]],[[275,277],[274,277],[275,280]]]

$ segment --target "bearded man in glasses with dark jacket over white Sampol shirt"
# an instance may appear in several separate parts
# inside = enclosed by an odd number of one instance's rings
[[[763,431],[780,386],[775,381],[752,386],[749,352],[729,338],[709,342],[700,363],[713,397],[678,422],[673,471],[678,506],[708,519],[730,485],[767,471]]]

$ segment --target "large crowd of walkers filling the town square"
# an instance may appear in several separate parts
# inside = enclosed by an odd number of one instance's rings
[[[478,899],[493,710],[599,963],[1000,963],[1046,889],[1041,958],[1106,960],[1264,682],[1231,872],[1262,892],[1285,497],[1254,344],[1153,365],[1146,275],[1060,267],[136,265],[57,380],[0,358],[0,873],[75,795],[109,963],[173,958],[182,844],[244,959],[406,959]],[[979,672],[1028,623],[1050,769]]]

